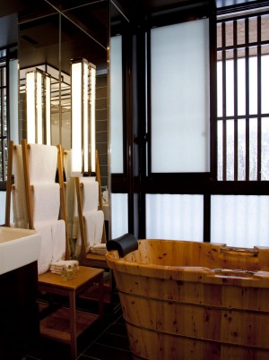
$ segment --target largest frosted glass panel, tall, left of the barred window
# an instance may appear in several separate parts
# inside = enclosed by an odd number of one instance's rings
[[[208,19],[152,29],[152,172],[209,171]]]

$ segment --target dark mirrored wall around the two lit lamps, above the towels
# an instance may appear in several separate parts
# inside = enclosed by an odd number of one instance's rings
[[[58,4],[57,4],[58,3]],[[61,4],[61,6],[60,6]],[[108,1],[44,0],[19,19],[20,140],[26,137],[25,74],[38,67],[51,76],[51,141],[71,149],[70,61],[96,65],[96,148],[102,186],[108,185]]]

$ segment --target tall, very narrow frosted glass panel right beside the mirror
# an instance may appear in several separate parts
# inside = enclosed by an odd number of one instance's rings
[[[123,173],[122,39],[110,39],[111,173]]]

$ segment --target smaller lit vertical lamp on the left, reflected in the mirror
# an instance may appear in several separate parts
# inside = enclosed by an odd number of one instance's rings
[[[51,143],[50,132],[51,77],[39,69],[26,73],[27,141]]]

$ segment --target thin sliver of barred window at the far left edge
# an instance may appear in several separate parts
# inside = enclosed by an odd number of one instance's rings
[[[6,116],[6,62],[0,58],[0,181],[6,180],[7,116]]]

